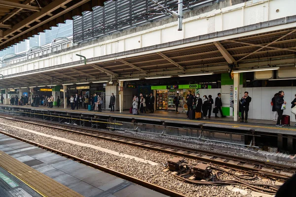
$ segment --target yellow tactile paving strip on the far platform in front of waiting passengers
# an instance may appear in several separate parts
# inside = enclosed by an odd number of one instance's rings
[[[10,105],[7,105],[10,106]],[[10,106],[11,107],[11,106]],[[26,107],[23,107],[26,108]],[[32,107],[30,107],[31,109]],[[37,108],[34,108],[37,109]],[[42,109],[42,108],[38,108],[38,109]],[[47,108],[46,108],[47,109]],[[50,109],[49,109],[50,110]],[[75,111],[71,111],[68,109],[57,109],[59,111],[67,111],[67,112],[88,112],[88,111],[82,111],[82,110],[75,110]],[[88,112],[90,113],[90,112]],[[170,121],[181,121],[181,122],[192,122],[192,123],[199,123],[199,124],[212,124],[212,125],[225,125],[225,126],[229,126],[232,128],[241,128],[241,127],[248,127],[248,128],[259,128],[259,129],[272,129],[272,130],[282,130],[282,131],[296,131],[296,129],[292,129],[292,128],[287,128],[287,127],[275,127],[275,126],[260,126],[260,125],[251,125],[251,124],[235,124],[235,122],[233,123],[222,123],[222,122],[214,122],[214,121],[196,121],[196,120],[186,120],[186,119],[176,119],[176,118],[162,118],[162,117],[153,117],[153,116],[141,116],[141,115],[130,115],[130,114],[116,114],[116,113],[108,113],[108,112],[94,112],[92,111],[91,113],[93,114],[104,114],[104,115],[117,115],[117,116],[123,116],[123,117],[132,117],[132,118],[149,118],[149,119],[155,119],[155,120],[170,120]],[[43,115],[43,114],[41,114]]]

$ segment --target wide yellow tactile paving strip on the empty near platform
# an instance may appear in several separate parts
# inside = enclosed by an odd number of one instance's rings
[[[83,197],[70,188],[0,151],[0,166],[43,197]]]

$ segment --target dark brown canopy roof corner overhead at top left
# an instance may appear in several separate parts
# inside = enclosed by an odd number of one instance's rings
[[[107,0],[0,0],[0,50]]]

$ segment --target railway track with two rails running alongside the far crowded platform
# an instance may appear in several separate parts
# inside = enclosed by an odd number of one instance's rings
[[[87,128],[77,128],[70,125],[58,124],[51,122],[51,125],[47,125],[48,122],[41,120],[32,120],[27,118],[20,118],[16,116],[1,115],[0,118],[9,119],[12,121],[20,121],[28,124],[34,124],[37,126],[47,127],[51,129],[63,130],[73,132],[77,134],[92,136],[100,139],[110,140],[122,144],[141,147],[163,153],[168,153],[174,156],[184,157],[188,159],[194,159],[199,162],[207,164],[215,164],[220,167],[227,167],[234,170],[252,172],[263,177],[275,178],[279,180],[287,180],[296,171],[296,167],[282,164],[274,164],[269,162],[263,162],[254,159],[246,159],[238,156],[229,156],[221,153],[213,153],[201,149],[185,148],[181,146],[153,142],[144,139],[138,139],[134,137],[122,136],[119,134],[111,134],[104,131],[94,131]],[[79,131],[76,131],[79,130]]]

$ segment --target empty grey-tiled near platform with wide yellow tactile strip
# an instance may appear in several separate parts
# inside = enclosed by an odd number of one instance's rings
[[[0,134],[0,197],[166,197]]]

